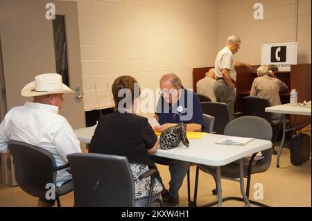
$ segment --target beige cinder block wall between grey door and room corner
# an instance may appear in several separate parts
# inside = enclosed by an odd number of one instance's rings
[[[214,64],[215,0],[77,2],[86,111],[112,105],[118,76],[155,90],[164,73],[176,73],[191,88],[193,67]]]

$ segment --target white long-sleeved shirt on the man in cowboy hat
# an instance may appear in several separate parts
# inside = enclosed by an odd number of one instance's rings
[[[31,103],[13,107],[0,124],[0,152],[8,152],[8,141],[22,141],[36,145],[53,154],[56,165],[68,163],[67,154],[81,152],[80,142],[66,118],[58,114],[58,107]],[[56,185],[71,179],[66,169],[57,173]]]

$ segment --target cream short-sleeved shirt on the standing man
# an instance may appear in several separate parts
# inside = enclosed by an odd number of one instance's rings
[[[236,81],[236,71],[234,66],[233,53],[229,48],[224,47],[218,52],[214,62],[215,78],[223,78],[222,69],[229,69],[229,77]]]

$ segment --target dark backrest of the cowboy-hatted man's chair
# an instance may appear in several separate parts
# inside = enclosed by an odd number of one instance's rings
[[[56,163],[53,155],[35,145],[20,141],[9,141],[17,184],[26,193],[45,199],[46,184],[56,181]],[[56,186],[55,186],[56,187]]]

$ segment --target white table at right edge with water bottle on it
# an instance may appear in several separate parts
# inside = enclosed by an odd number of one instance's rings
[[[311,107],[302,107],[300,105],[291,105],[291,104],[284,104],[284,105],[277,105],[277,106],[272,106],[272,107],[266,107],[265,109],[266,112],[270,113],[277,113],[277,114],[283,114],[283,137],[281,139],[281,145],[279,148],[279,152],[277,154],[277,167],[279,167],[279,158],[281,157],[281,150],[284,147],[284,141],[285,141],[285,136],[286,136],[286,131],[291,131],[295,130],[300,127],[304,127],[304,125],[296,125],[296,117],[297,115],[305,115],[305,116],[311,116]],[[286,130],[286,114],[293,114],[294,119],[295,119],[295,127],[289,128]]]

